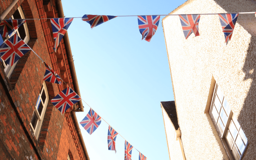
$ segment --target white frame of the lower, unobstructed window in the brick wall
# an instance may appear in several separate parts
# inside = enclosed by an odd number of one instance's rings
[[[41,97],[43,91],[45,92],[45,97],[46,97],[44,103],[43,103],[42,97]],[[34,132],[34,135],[36,136],[36,139],[38,139],[41,128],[42,128],[42,124],[43,124],[43,120],[44,120],[44,114],[45,114],[45,111],[46,111],[46,108],[47,108],[48,100],[49,100],[49,95],[48,95],[48,91],[47,91],[47,88],[46,88],[46,84],[44,82],[43,86],[42,86],[42,89],[40,91],[40,94],[38,96],[37,102],[36,102],[35,110],[34,110],[33,115],[32,115],[32,117],[33,117],[34,113],[36,113],[36,117],[38,119],[37,122],[36,122],[35,129],[34,129],[33,125],[31,124],[32,118],[30,120],[30,126],[31,126],[32,131]],[[41,116],[40,116],[40,114],[37,110],[37,106],[39,105],[39,102],[41,102],[42,105],[43,105]]]

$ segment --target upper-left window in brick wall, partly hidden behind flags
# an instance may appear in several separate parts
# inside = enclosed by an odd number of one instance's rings
[[[24,12],[22,11],[22,8],[21,7],[18,7],[18,9],[13,13],[11,19],[25,19],[25,15],[24,15]],[[24,23],[22,26],[20,26],[18,29],[16,29],[14,32],[12,32],[12,34],[8,35],[6,37],[6,39],[10,38],[11,36],[13,36],[14,34],[17,34],[25,43],[28,43],[29,41],[29,32],[28,32],[28,25],[27,25],[27,22]],[[6,40],[5,38],[3,39],[3,41]],[[0,38],[0,43],[3,44],[3,41],[2,39]],[[10,78],[11,74],[12,74],[12,71],[13,69],[15,68],[15,66],[17,65],[18,61],[16,63],[14,63],[11,66],[9,66],[8,64],[6,65],[4,60],[2,60],[2,63],[4,65],[4,72],[6,74],[6,76],[8,78]]]

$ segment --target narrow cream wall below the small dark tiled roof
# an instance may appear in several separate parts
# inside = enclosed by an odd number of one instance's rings
[[[179,140],[176,140],[176,137],[174,135],[175,129],[172,125],[172,122],[165,112],[164,108],[162,107],[163,117],[164,117],[164,128],[165,128],[165,134],[166,139],[168,142],[168,150],[170,155],[170,160],[183,160],[181,149],[180,149],[180,142]]]

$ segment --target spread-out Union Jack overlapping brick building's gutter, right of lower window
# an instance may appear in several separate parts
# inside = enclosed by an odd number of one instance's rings
[[[81,98],[71,88],[66,88],[55,96],[51,102],[63,114],[73,104]]]

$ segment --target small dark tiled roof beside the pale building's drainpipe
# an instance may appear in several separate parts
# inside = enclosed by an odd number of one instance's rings
[[[173,100],[173,101],[161,102],[161,106],[163,106],[165,112],[169,116],[175,130],[178,130],[180,126],[178,123],[175,101]]]

